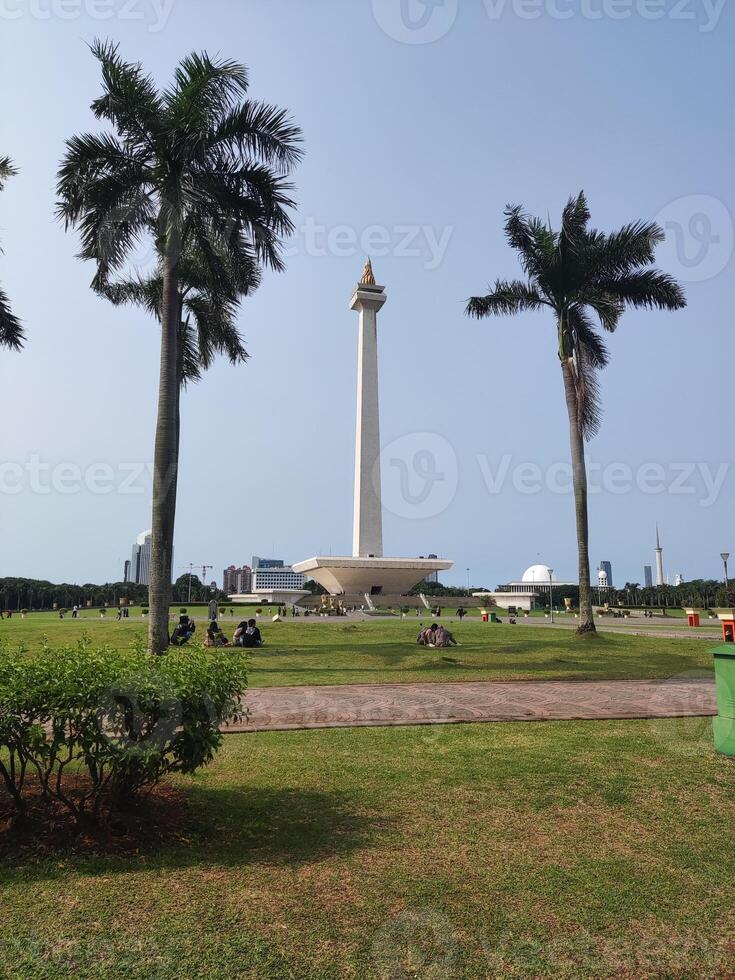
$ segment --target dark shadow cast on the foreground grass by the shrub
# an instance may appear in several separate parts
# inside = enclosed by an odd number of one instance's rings
[[[96,845],[25,849],[0,860],[0,888],[14,880],[50,880],[71,873],[128,873],[250,864],[299,865],[343,856],[390,830],[390,821],[355,808],[345,794],[293,789],[189,785],[177,794],[178,825],[151,843],[140,839],[126,853]],[[165,815],[163,817],[165,819]],[[160,821],[159,821],[160,823]]]

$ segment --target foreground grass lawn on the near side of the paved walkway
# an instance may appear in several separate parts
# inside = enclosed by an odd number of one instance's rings
[[[0,862],[3,978],[725,977],[709,723],[230,736],[183,838]]]

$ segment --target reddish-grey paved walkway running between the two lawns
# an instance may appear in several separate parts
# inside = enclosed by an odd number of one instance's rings
[[[340,684],[248,692],[247,722],[231,732],[478,721],[678,718],[716,714],[714,682],[471,681],[454,684]]]

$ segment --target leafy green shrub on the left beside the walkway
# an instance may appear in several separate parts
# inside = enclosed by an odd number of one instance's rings
[[[242,716],[246,686],[242,660],[224,651],[156,657],[86,638],[34,654],[0,650],[0,778],[14,817],[25,814],[29,775],[80,824],[206,765],[219,726]]]

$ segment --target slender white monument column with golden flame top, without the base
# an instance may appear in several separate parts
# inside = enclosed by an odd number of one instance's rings
[[[350,301],[360,320],[357,342],[354,558],[383,557],[380,505],[380,415],[378,412],[378,310],[387,296],[375,285],[370,259]]]

